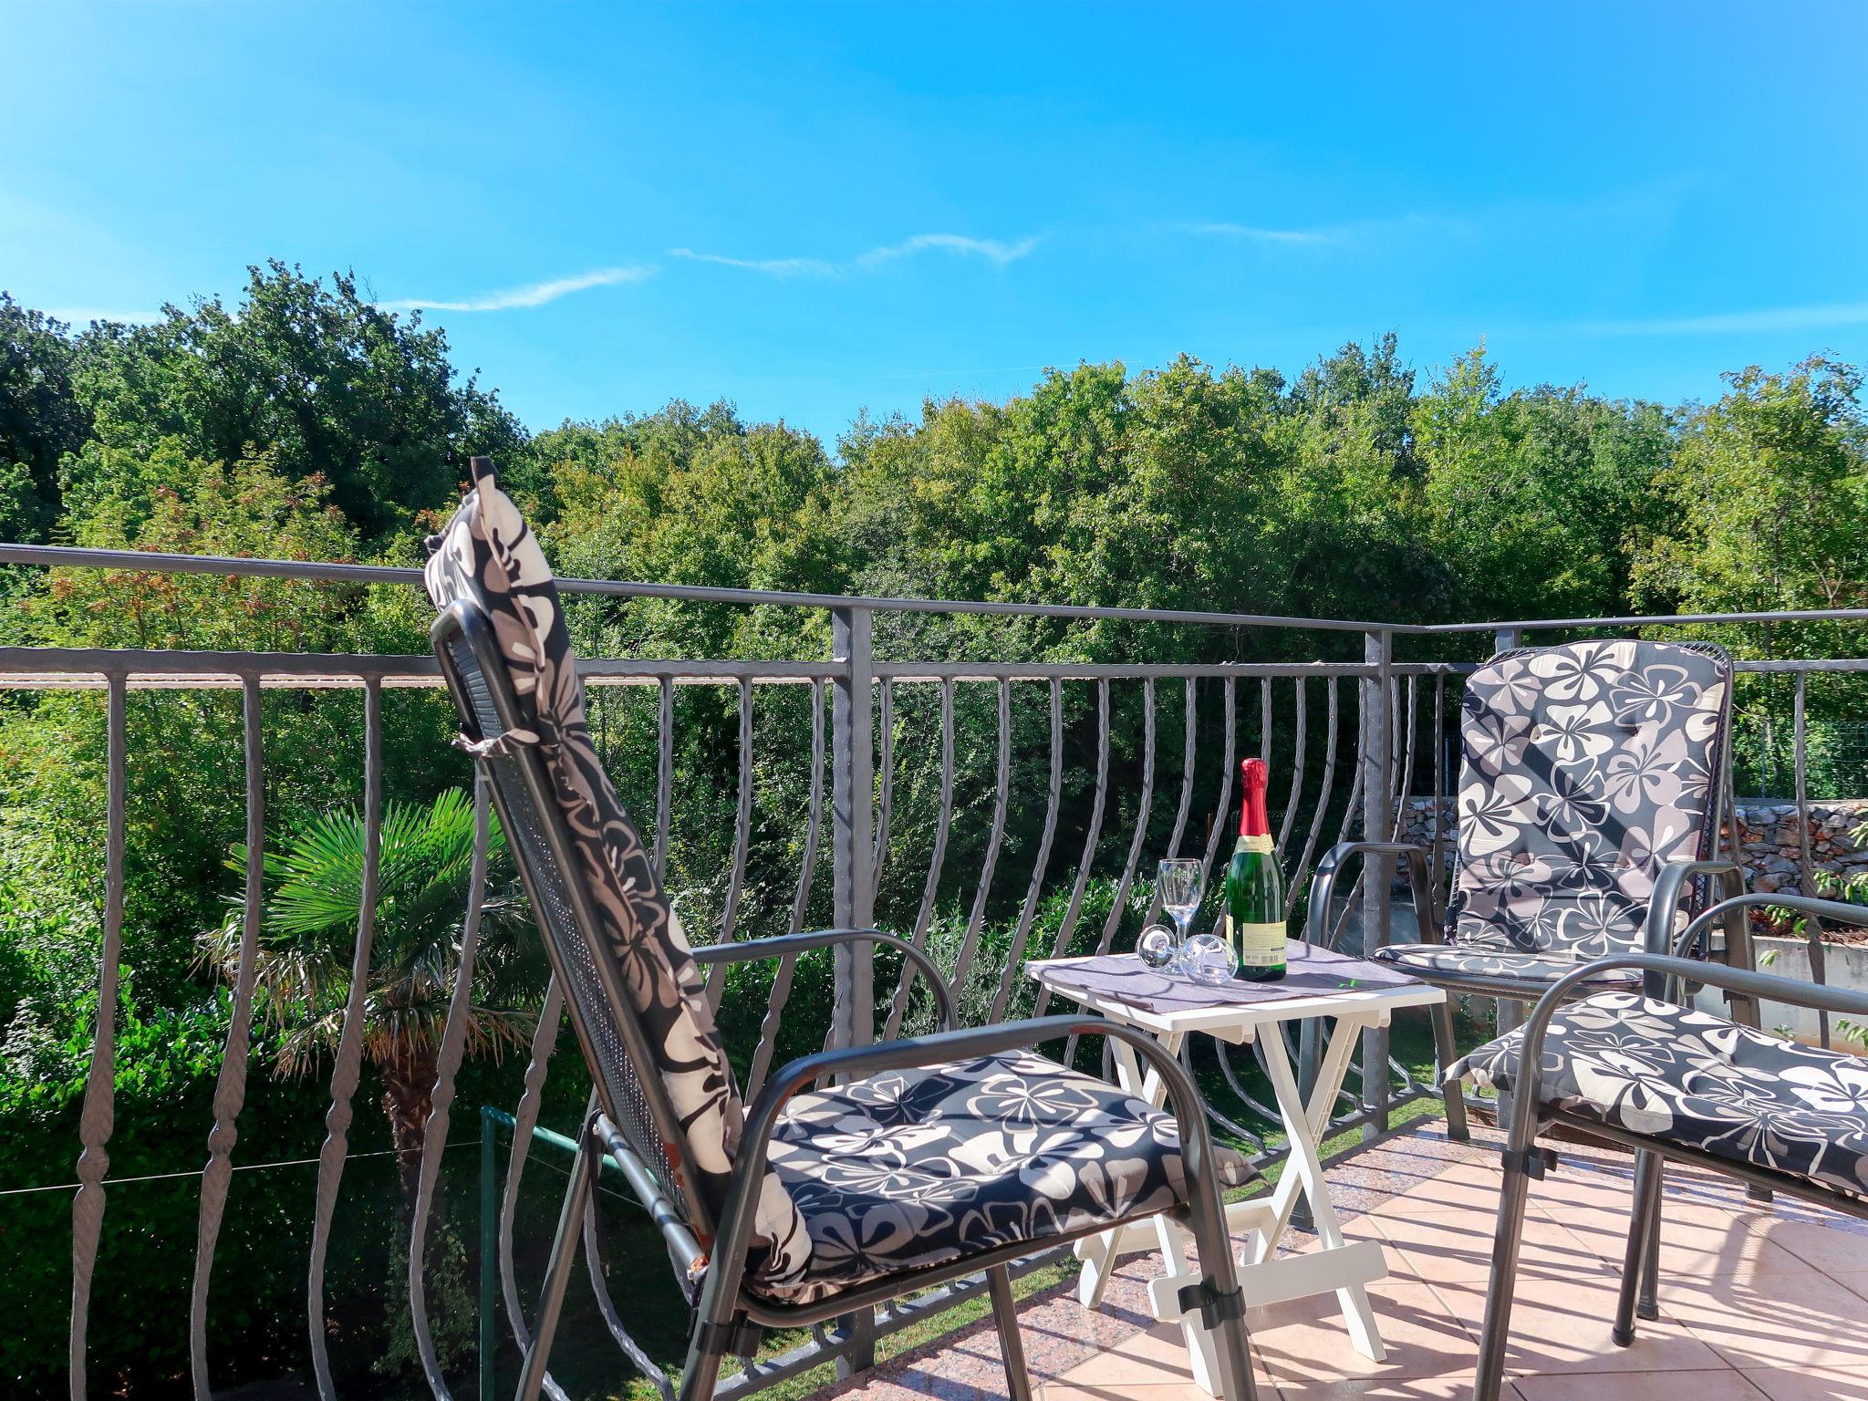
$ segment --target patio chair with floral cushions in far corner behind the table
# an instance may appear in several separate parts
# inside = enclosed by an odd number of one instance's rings
[[[1569,975],[1592,958],[1683,951],[1676,930],[1704,906],[1707,882],[1739,891],[1737,865],[1709,859],[1730,717],[1732,658],[1707,643],[1500,652],[1466,680],[1459,872],[1444,923],[1425,846],[1341,842],[1317,863],[1308,938],[1330,943],[1330,897],[1351,857],[1399,856],[1423,941],[1369,956],[1451,992],[1498,998],[1500,1012],[1556,984],[1582,986]],[[1743,927],[1728,921],[1726,932],[1748,958]],[[1601,966],[1582,990],[1636,981]],[[1435,1011],[1433,1031],[1444,1068],[1457,1054],[1450,1005]],[[1444,1097],[1448,1132],[1466,1138],[1459,1083],[1446,1082]]]

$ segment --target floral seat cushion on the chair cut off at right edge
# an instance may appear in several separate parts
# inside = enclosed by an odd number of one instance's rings
[[[1448,1080],[1509,1091],[1522,1031],[1479,1046]],[[1778,1040],[1722,1016],[1603,992],[1562,1007],[1543,1042],[1539,1102],[1644,1138],[1868,1192],[1868,1059]]]

